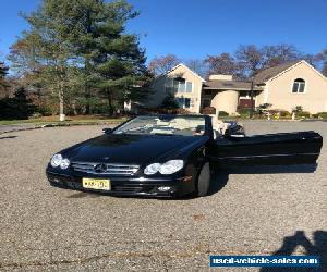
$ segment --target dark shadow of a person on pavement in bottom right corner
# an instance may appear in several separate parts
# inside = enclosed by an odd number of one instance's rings
[[[291,256],[296,247],[302,246],[304,255],[317,256],[319,258],[319,268],[262,268],[261,272],[287,272],[287,271],[305,271],[305,272],[324,272],[327,271],[327,232],[315,231],[313,243],[305,236],[303,231],[296,231],[292,236],[286,236],[281,247],[272,256]]]

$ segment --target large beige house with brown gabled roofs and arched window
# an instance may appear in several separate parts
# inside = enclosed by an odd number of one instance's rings
[[[146,107],[159,107],[173,94],[181,108],[199,113],[205,107],[235,114],[238,109],[272,104],[272,109],[291,111],[302,106],[311,113],[327,111],[327,78],[306,61],[290,62],[259,72],[253,83],[233,81],[231,75],[210,75],[205,81],[184,64],[179,64],[153,83],[154,94]]]

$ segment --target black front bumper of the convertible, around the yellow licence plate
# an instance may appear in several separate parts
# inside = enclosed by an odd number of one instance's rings
[[[145,178],[142,176],[89,176],[57,173],[46,171],[49,183],[55,187],[76,189],[82,191],[94,191],[113,196],[149,196],[149,197],[180,197],[194,191],[194,182],[190,177],[156,177]],[[108,178],[111,183],[110,190],[88,189],[82,186],[83,177]],[[170,187],[168,191],[160,191],[158,187]]]

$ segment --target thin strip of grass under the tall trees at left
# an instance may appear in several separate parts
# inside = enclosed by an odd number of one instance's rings
[[[101,115],[76,115],[66,116],[65,121],[60,122],[59,116],[43,116],[27,120],[0,120],[0,125],[20,125],[20,124],[92,124],[92,123],[121,123],[126,118],[106,118]]]

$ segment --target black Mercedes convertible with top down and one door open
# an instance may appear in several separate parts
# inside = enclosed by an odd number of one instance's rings
[[[208,115],[136,116],[56,153],[51,185],[111,195],[205,196],[213,168],[316,164],[315,132],[245,136],[238,123],[213,128]]]

